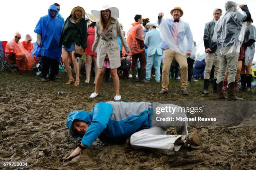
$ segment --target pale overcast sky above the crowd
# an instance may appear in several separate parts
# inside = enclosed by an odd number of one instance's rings
[[[1,1],[0,15],[0,40],[9,41],[13,39],[16,31],[20,32],[24,40],[28,33],[36,41],[35,26],[40,17],[48,14],[50,5],[60,4],[60,14],[66,20],[73,7],[81,6],[85,12],[97,10],[102,5],[108,4],[118,7],[120,12],[119,23],[123,24],[124,31],[131,28],[136,14],[143,18],[149,18],[151,22],[157,21],[158,13],[163,12],[165,16],[170,16],[170,10],[179,6],[184,11],[182,20],[189,23],[192,34],[197,44],[202,42],[205,23],[212,20],[213,9],[220,7],[225,13],[225,0],[4,0]],[[251,16],[256,16],[256,0],[239,0],[239,4],[247,4]],[[256,19],[255,19],[256,21]],[[255,25],[255,23],[253,23]]]

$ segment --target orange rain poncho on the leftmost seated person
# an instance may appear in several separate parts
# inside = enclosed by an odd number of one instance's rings
[[[20,33],[16,32],[15,36],[21,37]],[[31,70],[31,67],[36,63],[31,53],[29,53],[21,42],[16,42],[15,38],[7,43],[5,52],[7,54],[14,53],[15,57],[6,57],[7,62],[15,62],[19,70]]]

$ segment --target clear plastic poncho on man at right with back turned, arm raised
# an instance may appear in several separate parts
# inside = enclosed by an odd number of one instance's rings
[[[214,28],[213,41],[217,43],[220,49],[220,55],[227,55],[232,52],[240,52],[240,47],[243,43],[246,23],[246,13],[238,10],[238,4],[228,1],[225,4],[225,15],[218,20]],[[228,51],[223,50],[223,47],[231,46]]]

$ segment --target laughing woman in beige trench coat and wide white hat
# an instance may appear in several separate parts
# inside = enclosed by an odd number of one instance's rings
[[[120,24],[117,20],[119,17],[119,10],[116,7],[105,5],[101,10],[92,10],[91,12],[95,17],[100,18],[100,20],[97,21],[95,26],[95,40],[92,45],[92,51],[95,51],[96,48],[98,48],[97,66],[99,67],[99,72],[96,79],[95,91],[90,95],[90,98],[97,97],[105,70],[106,68],[110,68],[111,77],[115,87],[114,100],[120,100],[120,84],[117,68],[121,65],[121,57],[116,38],[117,35],[120,37],[127,52],[130,51],[130,47],[123,37]]]

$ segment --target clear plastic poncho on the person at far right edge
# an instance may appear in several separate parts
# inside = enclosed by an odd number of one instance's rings
[[[254,25],[248,25],[246,27],[245,40],[244,42],[248,42],[249,40],[256,41],[256,28]],[[255,42],[253,45],[246,47],[245,56],[244,56],[244,64],[248,65],[250,60],[253,60],[253,56],[255,54]]]

